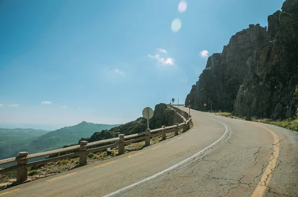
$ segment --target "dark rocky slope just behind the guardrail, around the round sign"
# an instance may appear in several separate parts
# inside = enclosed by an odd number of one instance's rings
[[[179,116],[172,108],[164,103],[155,105],[154,115],[149,120],[150,129],[160,128],[161,126],[170,126],[175,123],[182,123],[183,118]],[[131,135],[141,133],[147,129],[147,119],[140,117],[132,122],[111,128],[110,130],[103,130],[95,132],[90,138],[82,138],[81,140],[88,142],[95,142],[109,138],[118,137],[118,134]]]

